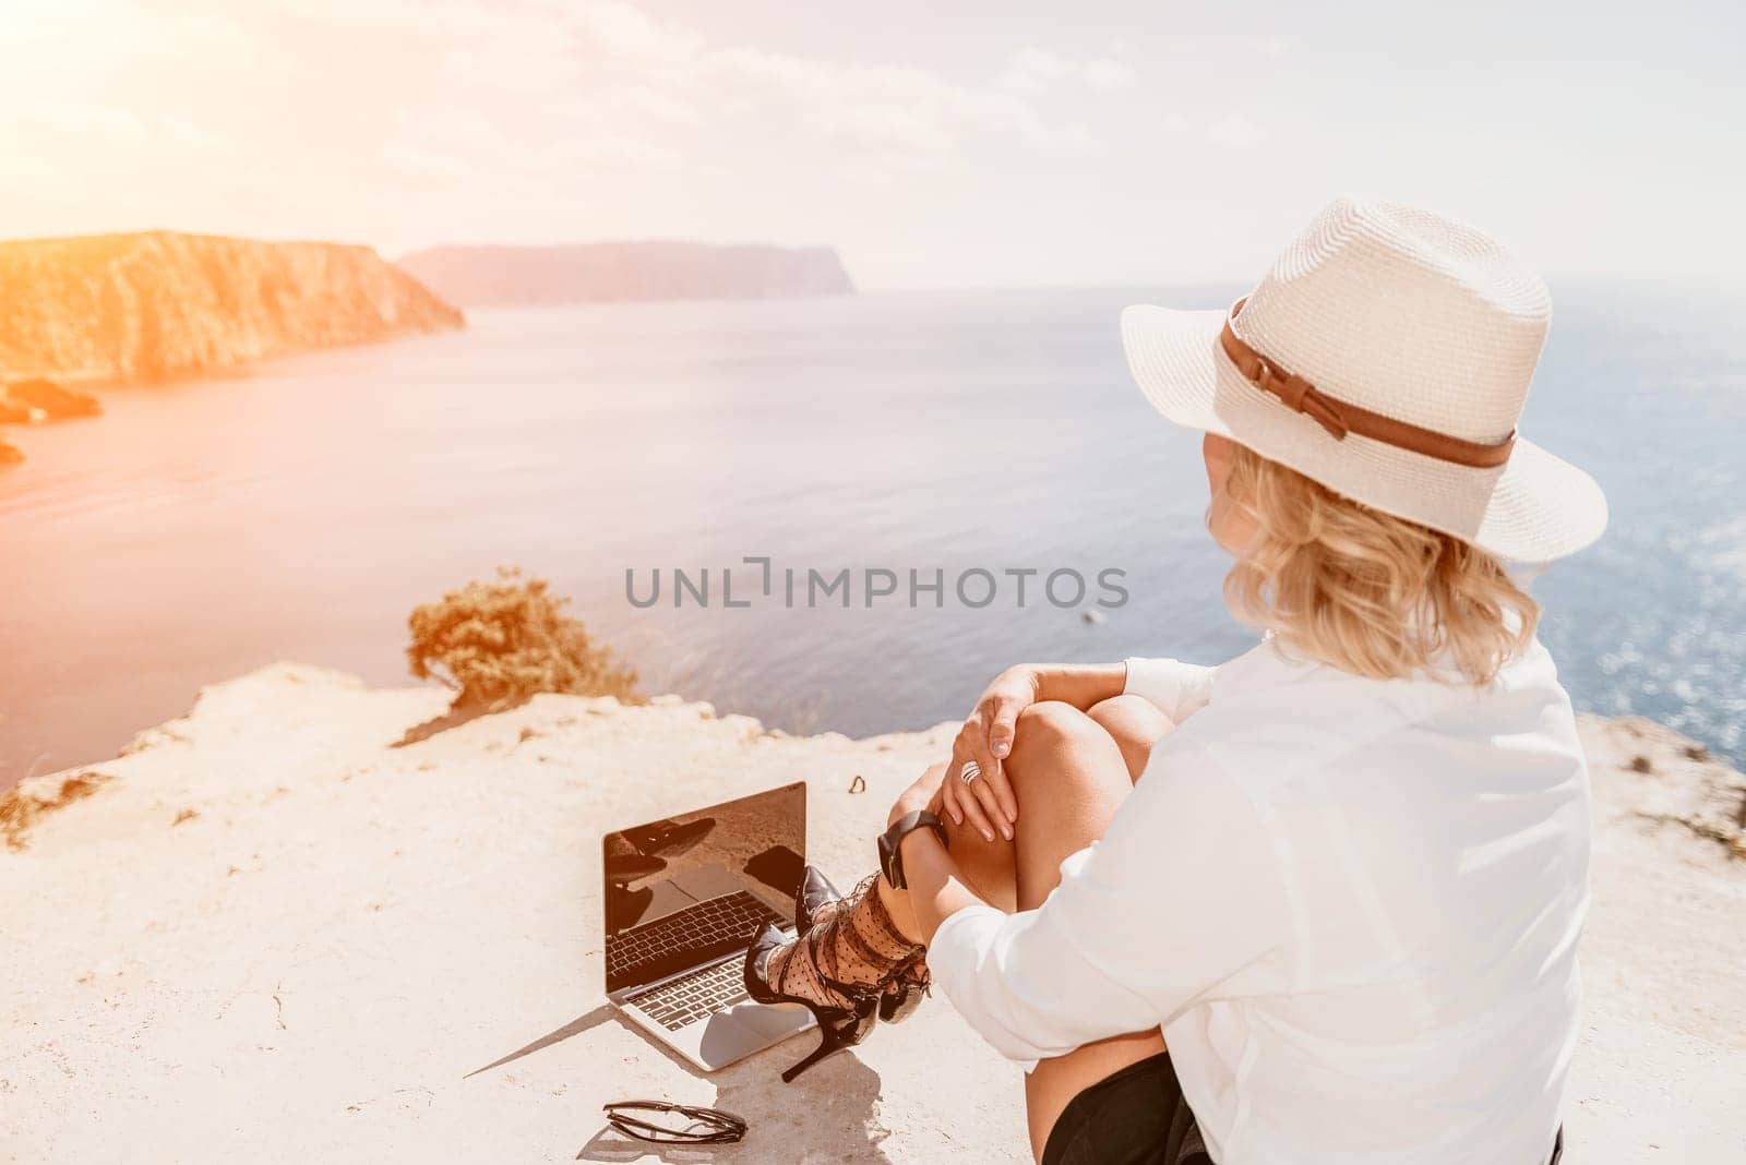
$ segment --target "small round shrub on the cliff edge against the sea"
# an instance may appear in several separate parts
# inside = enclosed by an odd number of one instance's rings
[[[499,712],[540,692],[636,699],[637,673],[618,668],[567,598],[545,579],[498,569],[494,582],[468,582],[412,610],[407,661],[417,678],[454,689],[454,706]]]

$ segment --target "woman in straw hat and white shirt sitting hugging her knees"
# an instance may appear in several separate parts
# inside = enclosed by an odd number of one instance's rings
[[[810,874],[800,937],[747,959],[819,1015],[808,1064],[931,978],[1025,1066],[1051,1165],[1556,1160],[1587,776],[1500,560],[1580,549],[1606,506],[1516,436],[1547,319],[1489,237],[1353,201],[1229,312],[1128,309],[1266,638],[1002,673],[882,874]]]

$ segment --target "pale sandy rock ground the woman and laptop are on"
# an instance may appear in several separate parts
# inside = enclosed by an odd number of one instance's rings
[[[1016,1071],[939,999],[821,1066],[807,1095],[831,1104],[801,1111],[775,1073],[805,1041],[702,1076],[601,996],[601,832],[805,778],[808,855],[850,879],[948,726],[801,738],[676,696],[540,696],[395,746],[445,705],[274,664],[115,760],[21,787],[10,818],[33,813],[0,844],[19,950],[0,970],[0,1156],[606,1160],[599,1106],[641,1093],[744,1114],[719,1160],[1025,1155]],[[1729,1160],[1746,778],[1650,722],[1584,717],[1582,736],[1596,869],[1571,1153]],[[939,1078],[976,1083],[948,1102]]]

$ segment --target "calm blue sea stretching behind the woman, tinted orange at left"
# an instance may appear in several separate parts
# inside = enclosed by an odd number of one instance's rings
[[[272,659],[405,682],[412,605],[498,563],[574,595],[646,691],[794,731],[962,715],[1023,659],[1226,657],[1254,638],[1219,602],[1198,438],[1128,382],[1116,314],[1238,291],[482,310],[112,391],[101,420],[9,434],[30,460],[0,471],[0,785],[103,759]],[[1746,760],[1746,296],[1554,295],[1524,427],[1596,473],[1613,525],[1538,579],[1543,638],[1582,708]],[[798,569],[798,607],[780,574],[754,595],[744,556]],[[656,567],[663,602],[637,610],[625,572],[646,593]],[[672,609],[674,567],[711,570],[709,609]],[[753,607],[721,607],[726,567]],[[854,605],[807,609],[805,570],[843,567]],[[904,595],[911,569],[948,588],[985,569],[1002,593],[866,609],[868,569]],[[1039,574],[1018,609],[1007,569],[1119,569],[1130,600],[1088,624]]]

